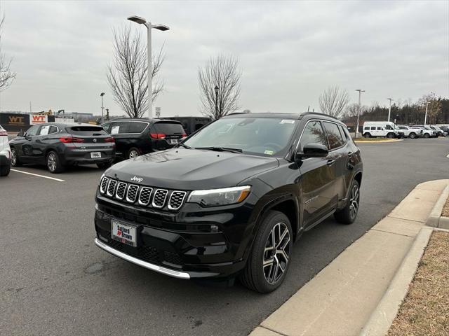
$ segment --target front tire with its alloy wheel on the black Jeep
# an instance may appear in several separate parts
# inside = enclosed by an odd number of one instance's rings
[[[283,248],[276,248],[281,246]],[[270,247],[272,249],[266,251]],[[288,217],[280,211],[269,211],[260,223],[252,251],[240,275],[243,286],[259,293],[269,293],[281,286],[290,265],[292,248],[293,230]]]

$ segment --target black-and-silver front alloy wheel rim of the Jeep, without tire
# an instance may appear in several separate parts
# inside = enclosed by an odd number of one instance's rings
[[[290,245],[290,232],[286,223],[274,225],[265,244],[262,264],[265,280],[268,283],[276,283],[286,271]]]

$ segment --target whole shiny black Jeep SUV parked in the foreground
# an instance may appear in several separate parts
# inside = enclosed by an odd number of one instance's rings
[[[267,293],[293,241],[334,215],[353,223],[362,162],[347,127],[321,113],[234,113],[176,148],[109,168],[95,244],[182,279],[240,276]]]

